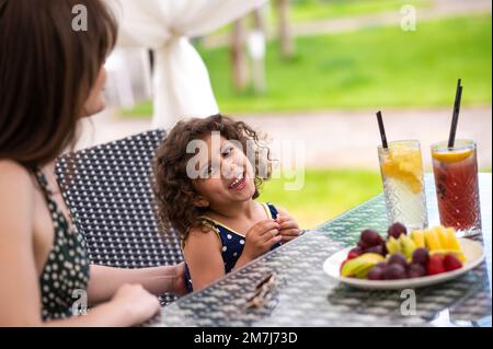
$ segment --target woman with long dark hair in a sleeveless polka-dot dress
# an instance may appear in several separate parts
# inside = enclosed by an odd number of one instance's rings
[[[72,30],[74,5],[88,31]],[[156,294],[184,293],[183,265],[90,266],[55,182],[79,119],[104,108],[116,32],[101,0],[0,0],[0,326],[131,326]],[[94,306],[72,316],[80,290]]]

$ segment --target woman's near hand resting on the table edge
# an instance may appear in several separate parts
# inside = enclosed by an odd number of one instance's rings
[[[141,324],[154,316],[161,309],[156,295],[140,284],[124,284],[112,299],[113,305],[123,309],[131,325]]]

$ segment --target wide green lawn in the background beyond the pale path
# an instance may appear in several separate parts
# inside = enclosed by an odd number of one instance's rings
[[[490,15],[419,23],[416,32],[389,26],[300,37],[296,49],[286,61],[277,43],[268,45],[264,95],[233,92],[227,48],[199,49],[221,110],[450,107],[457,78],[463,106],[492,101]],[[149,103],[125,112],[151,114]]]

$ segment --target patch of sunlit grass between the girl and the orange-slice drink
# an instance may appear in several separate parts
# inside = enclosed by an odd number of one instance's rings
[[[381,191],[378,172],[364,170],[307,170],[301,190],[288,191],[293,179],[271,179],[264,184],[261,201],[287,209],[302,229],[311,229]]]

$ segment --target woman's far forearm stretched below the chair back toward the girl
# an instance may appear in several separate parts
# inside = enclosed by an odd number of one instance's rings
[[[183,282],[184,264],[144,269],[122,269],[104,266],[91,266],[91,279],[88,287],[90,304],[110,300],[125,283],[141,284],[148,292],[159,295],[186,293]]]

